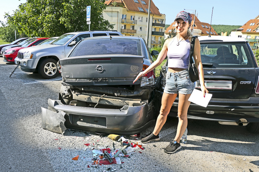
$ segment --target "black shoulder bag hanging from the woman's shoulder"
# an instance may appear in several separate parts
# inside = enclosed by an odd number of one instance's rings
[[[196,69],[195,64],[193,62],[194,42],[196,37],[197,36],[193,36],[191,39],[190,61],[189,61],[189,67],[188,67],[189,76],[192,82],[199,80],[199,72]]]

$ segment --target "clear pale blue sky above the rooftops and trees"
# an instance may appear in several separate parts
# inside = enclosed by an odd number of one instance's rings
[[[148,0],[145,0],[148,1]],[[13,10],[18,9],[20,3],[25,3],[26,0],[0,0],[0,20],[5,21],[3,15],[4,12],[13,13]],[[195,0],[195,1],[173,1],[173,0],[153,0],[155,5],[158,7],[160,13],[165,14],[165,24],[171,24],[178,12],[183,9],[196,9],[198,12],[198,19],[201,22],[209,23],[211,20],[212,7],[213,17],[212,24],[224,24],[224,25],[240,25],[242,26],[248,20],[256,18],[259,15],[258,0],[217,0],[217,1],[206,1]],[[214,2],[214,3],[212,3]],[[186,10],[188,11],[188,10]],[[192,10],[188,11],[194,12]]]

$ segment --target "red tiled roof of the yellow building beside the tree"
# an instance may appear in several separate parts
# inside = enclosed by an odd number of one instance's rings
[[[110,5],[111,3],[113,2],[116,2],[116,3],[120,3],[120,2],[123,2],[125,7],[129,10],[129,11],[136,11],[136,12],[142,12],[142,13],[148,13],[146,11],[146,9],[148,9],[148,0],[142,0],[144,1],[146,4],[142,4],[140,0],[137,0],[138,3],[134,2],[134,0],[109,0],[109,1],[105,1],[104,3],[106,5]],[[138,9],[138,7],[142,8],[144,11],[140,11]],[[156,14],[156,15],[159,15],[161,16],[161,13],[159,12],[159,9],[157,8],[157,6],[155,6],[155,4],[153,3],[153,1],[151,0],[151,3],[150,3],[150,12],[152,14]]]

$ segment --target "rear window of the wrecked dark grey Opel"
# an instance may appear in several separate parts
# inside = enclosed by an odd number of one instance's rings
[[[116,38],[84,40],[75,47],[69,57],[106,54],[142,55],[140,40]]]

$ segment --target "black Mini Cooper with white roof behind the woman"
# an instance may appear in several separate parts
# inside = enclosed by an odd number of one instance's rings
[[[247,40],[229,36],[200,36],[205,86],[212,94],[208,106],[191,103],[189,119],[218,121],[226,125],[245,125],[259,132],[259,68]],[[157,106],[161,105],[166,83],[167,62],[156,83]],[[199,81],[195,82],[200,89]],[[177,117],[178,98],[170,116]]]

